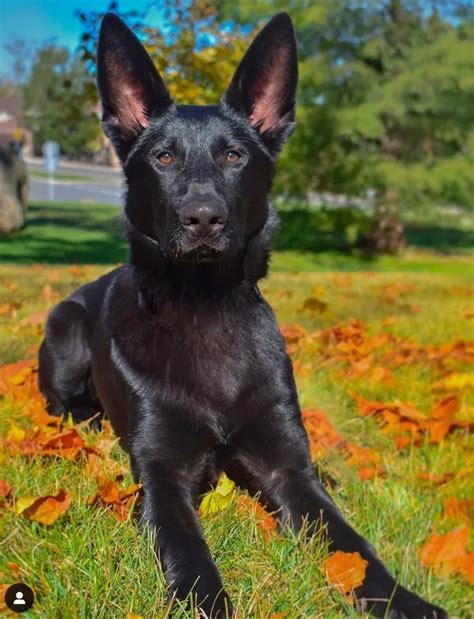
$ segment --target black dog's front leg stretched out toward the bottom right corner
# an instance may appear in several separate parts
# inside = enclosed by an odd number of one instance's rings
[[[264,421],[264,424],[261,422]],[[241,437],[230,477],[275,512],[281,528],[311,535],[323,527],[330,551],[359,552],[368,562],[365,581],[355,590],[361,610],[389,619],[447,619],[447,613],[400,586],[372,546],[346,522],[319,483],[306,433],[297,411],[263,416]]]

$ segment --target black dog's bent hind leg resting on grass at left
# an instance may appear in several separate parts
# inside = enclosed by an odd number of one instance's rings
[[[39,387],[52,415],[71,413],[75,422],[102,413],[91,377],[91,326],[86,309],[68,299],[49,315],[39,351]],[[100,422],[94,420],[98,427]]]

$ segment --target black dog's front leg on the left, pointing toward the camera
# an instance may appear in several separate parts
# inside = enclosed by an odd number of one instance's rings
[[[193,505],[195,477],[176,462],[134,454],[144,488],[142,517],[156,535],[156,550],[171,595],[207,617],[232,616],[232,605],[204,540]],[[180,463],[182,464],[182,463]],[[192,470],[192,463],[186,468]],[[181,472],[179,472],[181,470]]]

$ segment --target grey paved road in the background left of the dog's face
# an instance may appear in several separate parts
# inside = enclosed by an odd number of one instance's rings
[[[119,171],[80,163],[62,163],[59,179],[49,182],[34,176],[35,171],[44,171],[42,161],[27,160],[30,174],[30,200],[55,200],[57,202],[96,202],[99,204],[122,204],[122,177]],[[63,180],[61,175],[81,177],[78,180]]]

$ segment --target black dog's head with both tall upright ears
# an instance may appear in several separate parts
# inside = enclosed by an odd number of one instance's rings
[[[274,17],[219,105],[176,106],[147,52],[115,15],[98,47],[103,126],[122,161],[130,226],[166,260],[245,254],[264,228],[276,156],[294,126],[293,26]]]

